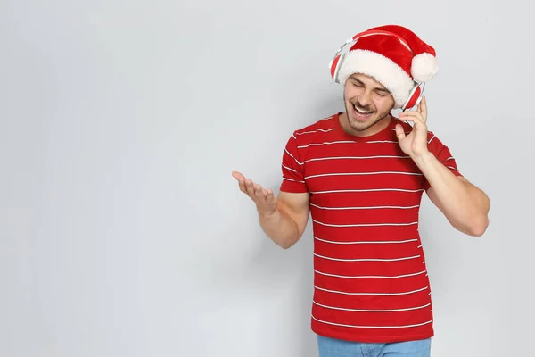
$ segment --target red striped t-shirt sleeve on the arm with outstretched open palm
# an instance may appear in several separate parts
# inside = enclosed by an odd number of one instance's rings
[[[280,190],[292,193],[309,192],[309,187],[305,183],[303,174],[303,162],[300,160],[299,151],[297,148],[297,137],[295,132],[292,137],[288,139],[284,147],[283,162],[283,182]]]

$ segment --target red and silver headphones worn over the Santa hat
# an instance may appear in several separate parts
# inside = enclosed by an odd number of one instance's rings
[[[379,30],[379,29],[368,29],[366,31],[360,32],[357,35],[348,39],[338,49],[338,51],[336,51],[336,54],[334,54],[333,60],[329,62],[329,70],[331,71],[331,78],[334,80],[335,83],[340,83],[340,78],[338,76],[340,73],[340,69],[342,68],[342,63],[344,62],[346,55],[348,54],[347,52],[342,54],[342,50],[350,44],[354,45],[355,43],[357,43],[358,38],[374,36],[374,35],[387,35],[387,36],[396,37],[398,38],[401,45],[407,47],[407,49],[411,53],[413,52],[410,46],[408,46],[407,41],[403,37],[400,37],[398,34],[394,32]],[[412,108],[420,104],[420,101],[422,100],[422,96],[424,95],[425,82],[420,83],[415,80],[414,83],[415,83],[415,86],[410,91],[410,94],[408,95],[408,98],[407,98],[407,102],[405,102],[405,104],[403,104],[400,108],[401,111],[403,112],[409,108]]]

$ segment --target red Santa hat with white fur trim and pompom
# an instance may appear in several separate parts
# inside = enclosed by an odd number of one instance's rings
[[[426,82],[439,70],[434,48],[404,27],[380,26],[353,39],[342,63],[334,64],[340,66],[337,80],[345,83],[353,73],[371,76],[391,92],[395,108],[407,102],[415,81]]]

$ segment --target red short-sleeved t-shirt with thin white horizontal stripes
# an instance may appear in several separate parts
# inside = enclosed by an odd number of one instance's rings
[[[346,133],[337,113],[293,132],[281,191],[310,193],[314,235],[311,328],[321,336],[388,343],[434,335],[418,232],[430,185],[399,147],[392,118],[369,137]],[[428,132],[428,148],[455,175],[455,159]]]

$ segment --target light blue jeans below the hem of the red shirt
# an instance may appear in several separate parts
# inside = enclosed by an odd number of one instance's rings
[[[366,344],[317,336],[319,357],[429,357],[431,338],[390,344]]]

